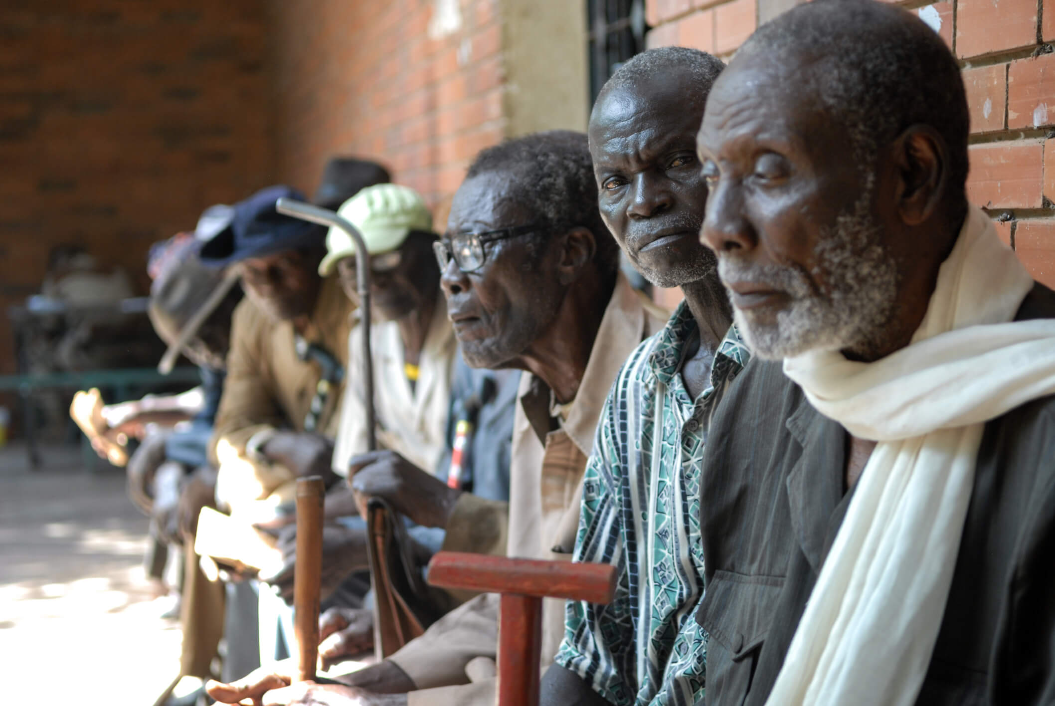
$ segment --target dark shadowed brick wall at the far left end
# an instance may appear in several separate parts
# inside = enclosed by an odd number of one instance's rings
[[[256,0],[0,3],[0,374],[54,245],[145,287],[151,243],[271,179],[266,32]]]

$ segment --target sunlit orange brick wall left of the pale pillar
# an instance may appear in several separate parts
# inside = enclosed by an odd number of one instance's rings
[[[272,2],[280,177],[310,192],[328,156],[368,156],[420,191],[443,223],[467,160],[505,134],[498,7]]]

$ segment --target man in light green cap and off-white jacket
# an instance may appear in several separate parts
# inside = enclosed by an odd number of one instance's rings
[[[420,469],[435,469],[443,453],[450,378],[457,350],[454,329],[440,293],[433,254],[433,216],[421,196],[404,186],[379,184],[345,202],[339,213],[363,235],[372,270],[371,347],[378,443]],[[356,248],[348,234],[331,228],[323,276],[334,270],[348,297],[357,299]],[[349,350],[362,347],[352,329]],[[359,366],[345,387],[333,470],[348,475],[348,461],[366,449],[366,399]]]

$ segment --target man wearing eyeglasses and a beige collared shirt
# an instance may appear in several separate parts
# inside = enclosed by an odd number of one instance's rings
[[[586,135],[537,133],[481,152],[436,250],[462,357],[474,367],[524,370],[511,500],[452,493],[443,549],[568,560],[601,405],[630,352],[666,320],[619,272]],[[564,603],[548,599],[542,623],[548,666]],[[261,703],[491,706],[497,633],[498,596],[480,595],[388,660],[341,678],[344,685],[299,684]],[[284,682],[257,672],[210,695],[236,703]]]

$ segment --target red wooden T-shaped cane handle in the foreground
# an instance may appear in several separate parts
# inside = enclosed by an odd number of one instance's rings
[[[615,567],[439,552],[428,564],[428,583],[501,594],[498,706],[538,706],[542,598],[611,603]]]

